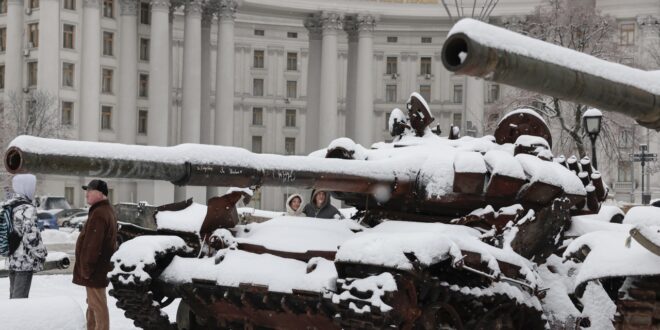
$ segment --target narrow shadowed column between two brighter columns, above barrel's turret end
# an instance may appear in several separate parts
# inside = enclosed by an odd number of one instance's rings
[[[348,36],[348,52],[346,64],[346,136],[355,140],[361,124],[356,122],[355,93],[357,93],[358,65],[358,30],[356,16],[347,16],[344,20],[344,31]]]

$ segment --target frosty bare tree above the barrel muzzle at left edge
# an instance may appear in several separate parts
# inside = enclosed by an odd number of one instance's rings
[[[9,92],[0,110],[0,144],[16,136],[66,138],[70,127],[60,119],[57,97],[43,90],[20,94]]]

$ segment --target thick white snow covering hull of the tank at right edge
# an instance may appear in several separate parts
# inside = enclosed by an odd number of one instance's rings
[[[625,231],[596,231],[571,242],[564,257],[585,245],[591,249],[575,278],[575,285],[603,277],[660,274],[660,256],[634,239],[630,239],[630,247],[626,247],[629,237]]]

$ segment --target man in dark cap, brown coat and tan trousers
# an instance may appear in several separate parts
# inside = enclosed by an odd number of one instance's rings
[[[73,283],[87,289],[87,329],[110,329],[110,316],[105,289],[110,257],[117,249],[117,219],[108,201],[108,185],[92,180],[82,187],[90,205],[87,222],[76,242]]]

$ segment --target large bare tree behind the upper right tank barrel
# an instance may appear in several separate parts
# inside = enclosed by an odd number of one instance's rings
[[[530,37],[574,49],[608,61],[618,62],[624,57],[619,49],[615,20],[600,13],[591,1],[545,0],[517,26]],[[555,151],[565,154],[587,155],[588,139],[582,127],[584,104],[566,102],[533,92],[513,90],[489,112],[497,113],[517,106],[528,106],[543,115],[549,125],[560,132],[554,137]],[[619,148],[620,131],[634,121],[624,116],[605,113],[599,142],[608,157],[622,159]]]

